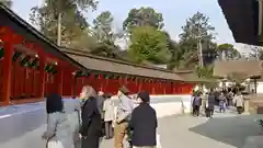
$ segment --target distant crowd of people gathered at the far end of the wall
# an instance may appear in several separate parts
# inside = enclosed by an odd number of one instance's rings
[[[215,105],[219,106],[219,112],[225,113],[230,106],[236,106],[238,114],[243,112],[243,96],[240,91],[194,91],[191,100],[192,115],[199,116],[204,113],[206,117],[213,117]]]

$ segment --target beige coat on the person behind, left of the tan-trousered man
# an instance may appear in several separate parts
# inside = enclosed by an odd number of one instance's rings
[[[114,103],[111,99],[106,99],[103,104],[104,122],[113,121],[114,114]]]

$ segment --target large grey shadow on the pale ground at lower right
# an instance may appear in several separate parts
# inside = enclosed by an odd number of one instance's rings
[[[259,124],[254,122],[258,117],[253,115],[217,117],[191,127],[188,130],[237,148],[243,148],[249,136],[258,136],[261,132]]]

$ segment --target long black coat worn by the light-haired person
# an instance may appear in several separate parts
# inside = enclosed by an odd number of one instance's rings
[[[100,136],[101,134],[101,114],[98,110],[96,99],[91,96],[81,109],[82,125],[80,133],[82,136]]]

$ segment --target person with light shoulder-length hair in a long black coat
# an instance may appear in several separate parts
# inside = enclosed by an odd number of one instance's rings
[[[80,138],[82,148],[99,148],[101,137],[101,114],[96,103],[96,92],[90,87],[85,86],[80,93],[82,99]]]

